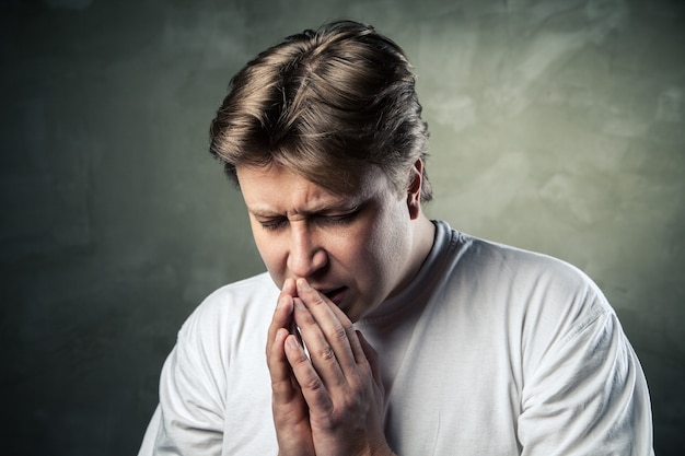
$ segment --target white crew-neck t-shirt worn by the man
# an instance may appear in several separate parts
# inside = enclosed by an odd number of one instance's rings
[[[614,311],[578,269],[457,233],[356,324],[379,352],[399,456],[651,455],[649,393]],[[276,455],[264,273],[211,294],[178,334],[140,448]]]

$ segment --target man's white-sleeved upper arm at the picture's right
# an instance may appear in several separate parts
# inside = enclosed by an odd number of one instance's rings
[[[608,309],[550,347],[521,404],[523,455],[653,454],[645,376]]]

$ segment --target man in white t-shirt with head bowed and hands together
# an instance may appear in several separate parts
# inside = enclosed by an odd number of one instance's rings
[[[234,77],[211,152],[268,274],[185,323],[140,455],[652,453],[645,377],[597,288],[426,218],[420,114],[402,49],[355,22]]]

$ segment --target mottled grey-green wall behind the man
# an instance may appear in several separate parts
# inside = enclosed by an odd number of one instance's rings
[[[433,218],[561,257],[615,306],[685,449],[681,2],[3,0],[3,454],[133,454],[199,301],[262,270],[206,152],[229,78],[341,16],[415,62]]]

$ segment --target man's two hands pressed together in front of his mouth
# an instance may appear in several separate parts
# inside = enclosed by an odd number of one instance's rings
[[[288,330],[293,320],[309,358]],[[345,313],[306,280],[286,280],[266,354],[279,456],[393,454],[383,433],[378,355]]]

